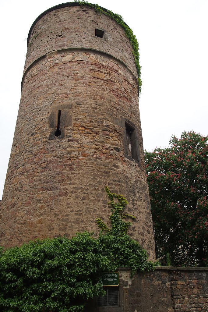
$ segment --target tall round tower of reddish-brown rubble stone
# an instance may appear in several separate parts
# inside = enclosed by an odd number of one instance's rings
[[[99,233],[105,186],[137,217],[129,234],[155,259],[138,107],[137,70],[123,28],[79,3],[32,24],[0,210],[0,245]]]

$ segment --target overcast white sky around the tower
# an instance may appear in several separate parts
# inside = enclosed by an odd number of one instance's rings
[[[208,134],[208,0],[96,0],[119,13],[139,41],[144,148],[168,145],[172,134]],[[61,0],[0,0],[1,153],[3,191],[20,101],[31,24]]]

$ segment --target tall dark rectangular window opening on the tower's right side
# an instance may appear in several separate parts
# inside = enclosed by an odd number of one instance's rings
[[[139,157],[138,157],[136,130],[132,128],[129,124],[126,124],[126,144],[128,156],[138,161]]]

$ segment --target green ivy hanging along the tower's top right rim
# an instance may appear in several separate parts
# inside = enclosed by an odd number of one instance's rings
[[[141,66],[139,65],[139,45],[136,36],[133,34],[133,31],[131,28],[128,27],[128,25],[123,21],[123,17],[120,14],[113,13],[112,11],[106,10],[104,11],[102,7],[99,7],[98,4],[89,3],[87,1],[79,1],[74,0],[74,2],[78,2],[80,5],[85,5],[88,7],[93,8],[96,12],[105,14],[111,18],[113,18],[124,30],[127,38],[131,42],[132,48],[133,48],[133,56],[134,61],[137,68],[137,74],[138,74],[138,85],[139,85],[139,94],[141,94],[141,87],[142,87],[142,80],[141,80]]]

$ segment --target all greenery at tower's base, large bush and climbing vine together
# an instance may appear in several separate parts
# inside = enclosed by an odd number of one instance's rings
[[[122,214],[126,199],[108,188],[106,192],[112,228],[98,219],[107,233],[101,231],[97,239],[84,232],[71,239],[35,240],[5,251],[0,248],[0,311],[83,312],[88,300],[105,294],[103,271],[129,267],[133,275],[159,265],[148,261],[146,251],[127,235],[130,222],[122,218],[135,217]]]

